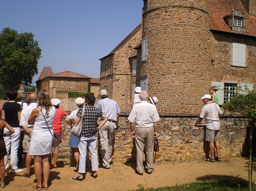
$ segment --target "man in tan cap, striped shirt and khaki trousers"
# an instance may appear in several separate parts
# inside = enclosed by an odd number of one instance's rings
[[[112,150],[114,146],[115,130],[121,110],[115,100],[109,99],[106,89],[99,92],[102,100],[99,100],[96,108],[100,109],[108,118],[105,125],[99,129],[99,144],[101,147],[101,155],[99,152],[100,167],[110,169],[112,159]]]

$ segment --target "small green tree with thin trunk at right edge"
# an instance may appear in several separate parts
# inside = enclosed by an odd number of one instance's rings
[[[238,88],[240,94],[235,93],[232,99],[223,104],[223,110],[226,115],[241,115],[243,117],[251,119],[250,141],[249,141],[249,190],[251,190],[252,177],[253,177],[253,162],[252,162],[252,150],[253,150],[253,130],[254,119],[256,118],[256,92],[250,91],[247,86]]]

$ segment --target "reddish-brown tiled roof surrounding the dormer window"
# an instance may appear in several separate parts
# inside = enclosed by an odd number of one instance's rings
[[[224,16],[232,13],[232,9],[236,11],[237,8],[240,12],[245,12],[246,33],[232,31],[223,19]],[[256,17],[248,14],[240,0],[210,0],[209,12],[211,29],[256,36]]]

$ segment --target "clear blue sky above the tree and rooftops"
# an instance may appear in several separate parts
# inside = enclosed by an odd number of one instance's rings
[[[143,0],[0,0],[0,29],[32,32],[44,66],[99,77],[100,61],[140,22]]]

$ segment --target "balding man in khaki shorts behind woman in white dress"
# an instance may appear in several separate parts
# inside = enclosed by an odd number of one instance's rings
[[[35,93],[28,95],[29,105],[21,111],[20,126],[25,131],[23,139],[23,152],[26,152],[26,172],[23,174],[24,177],[30,178],[30,166],[31,166],[31,155],[28,154],[30,147],[30,139],[33,132],[34,125],[28,125],[28,118],[34,108],[37,107],[37,95]]]

